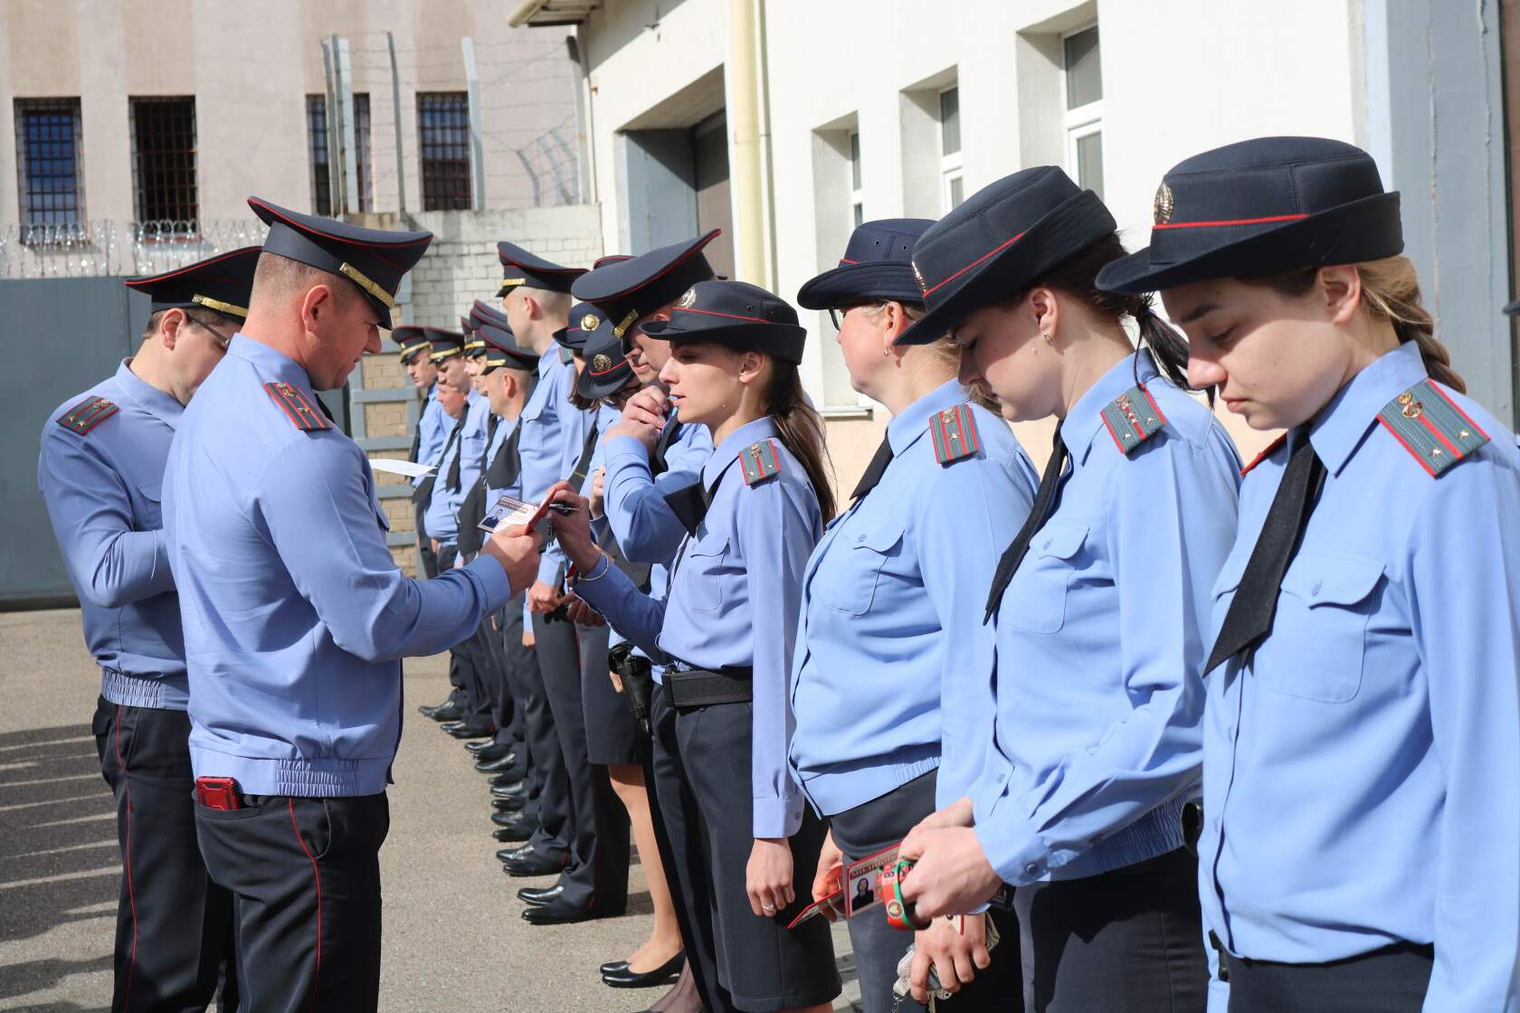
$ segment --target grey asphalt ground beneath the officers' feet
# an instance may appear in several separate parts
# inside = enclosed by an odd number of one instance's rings
[[[447,694],[447,658],[404,667],[406,726],[380,852],[383,1010],[632,1013],[663,989],[614,990],[597,966],[622,960],[652,923],[635,864],[628,914],[581,925],[521,920],[520,885],[494,860],[486,779],[418,703]],[[99,673],[78,611],[0,614],[0,1010],[78,1013],[111,1004],[120,857],[90,717]],[[859,995],[848,937],[836,1008]]]

